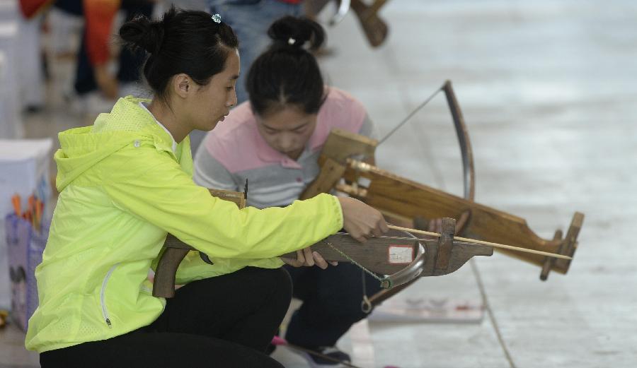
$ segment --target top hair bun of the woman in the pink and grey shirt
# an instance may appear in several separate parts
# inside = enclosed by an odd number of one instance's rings
[[[309,18],[285,16],[270,25],[268,36],[274,40],[275,44],[299,49],[309,41],[309,49],[314,50],[323,44],[325,31],[319,23]]]

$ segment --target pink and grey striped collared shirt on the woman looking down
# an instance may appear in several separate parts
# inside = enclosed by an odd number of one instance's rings
[[[215,189],[243,191],[248,179],[248,206],[287,206],[319,174],[318,159],[328,134],[338,128],[372,136],[365,107],[337,88],[329,88],[316,129],[297,160],[271,148],[257,129],[249,102],[234,108],[207,134],[195,155],[195,182]]]

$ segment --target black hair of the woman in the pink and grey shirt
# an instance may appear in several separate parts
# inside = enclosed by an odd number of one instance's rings
[[[253,111],[264,116],[292,104],[316,114],[325,101],[325,87],[319,64],[304,45],[318,49],[325,31],[309,18],[286,16],[270,25],[268,36],[272,44],[253,62],[246,79]]]

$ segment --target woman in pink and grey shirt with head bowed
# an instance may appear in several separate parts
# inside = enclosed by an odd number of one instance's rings
[[[323,43],[321,25],[288,16],[273,23],[268,35],[272,44],[248,71],[249,101],[208,133],[195,155],[197,184],[242,190],[248,179],[248,206],[258,208],[287,206],[299,198],[319,174],[317,161],[331,129],[367,136],[373,131],[359,101],[323,82],[309,52]],[[299,252],[299,261],[287,263],[294,297],[303,304],[294,312],[285,338],[349,361],[335,344],[352,324],[365,318],[360,307],[363,287],[373,294],[380,288],[377,281],[362,276],[351,263],[328,267],[320,254],[309,249]],[[319,268],[299,268],[314,264]],[[306,358],[313,367],[335,364]]]

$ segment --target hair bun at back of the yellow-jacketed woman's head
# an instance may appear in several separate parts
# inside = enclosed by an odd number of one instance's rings
[[[160,22],[154,22],[140,16],[130,20],[120,28],[120,37],[125,44],[132,49],[144,49],[150,54],[156,54],[163,43],[163,23],[166,18]]]

